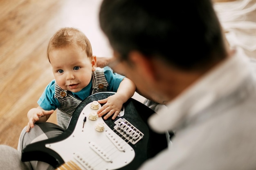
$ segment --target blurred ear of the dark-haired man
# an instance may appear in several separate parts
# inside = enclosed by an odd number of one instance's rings
[[[150,82],[157,79],[154,62],[149,57],[138,51],[132,51],[129,53],[128,58],[141,76],[146,77]]]

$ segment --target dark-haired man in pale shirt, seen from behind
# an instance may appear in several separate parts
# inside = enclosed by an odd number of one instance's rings
[[[110,66],[167,110],[149,118],[173,146],[139,170],[256,169],[255,63],[231,49],[211,0],[103,0]]]

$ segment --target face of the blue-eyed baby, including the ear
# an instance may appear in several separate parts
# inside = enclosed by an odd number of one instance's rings
[[[67,46],[49,52],[57,84],[74,93],[87,86],[96,69],[96,58],[88,57],[80,46]]]

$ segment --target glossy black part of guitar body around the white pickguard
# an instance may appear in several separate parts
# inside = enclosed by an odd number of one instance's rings
[[[24,148],[24,150],[22,150],[22,161],[37,160],[37,161],[47,162],[55,168],[58,168],[59,166],[61,166],[63,163],[65,163],[61,155],[59,155],[54,150],[51,150],[45,147],[45,144],[51,144],[57,141],[63,141],[67,137],[72,135],[72,132],[76,127],[77,120],[83,108],[87,104],[95,100],[97,101],[99,99],[105,99],[108,96],[113,94],[115,93],[112,93],[112,92],[96,93],[94,95],[89,96],[85,100],[83,100],[83,102],[81,102],[81,104],[79,104],[79,106],[74,111],[67,130],[65,130],[63,134],[59,135],[58,137],[54,137],[51,139],[29,144],[26,148]],[[135,157],[130,163],[128,163],[126,166],[122,168],[119,168],[118,170],[136,170],[139,166],[141,166],[141,164],[144,161],[146,161],[151,157],[154,157],[158,152],[160,152],[161,150],[167,147],[166,135],[157,134],[148,127],[147,119],[153,113],[154,113],[153,110],[151,110],[144,104],[132,98],[130,98],[124,104],[124,116],[121,118],[125,118],[133,126],[139,129],[144,134],[144,137],[141,140],[139,140],[136,144],[134,145],[130,144],[130,146],[135,151]],[[120,117],[117,117],[116,119],[119,119],[119,118]],[[114,129],[115,120],[112,120],[111,118],[109,118],[104,121],[111,129]]]

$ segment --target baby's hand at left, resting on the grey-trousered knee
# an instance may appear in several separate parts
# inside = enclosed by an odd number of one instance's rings
[[[54,110],[43,110],[40,106],[32,108],[27,113],[29,123],[27,124],[26,132],[29,132],[30,128],[34,128],[35,122],[45,122],[54,113]]]

